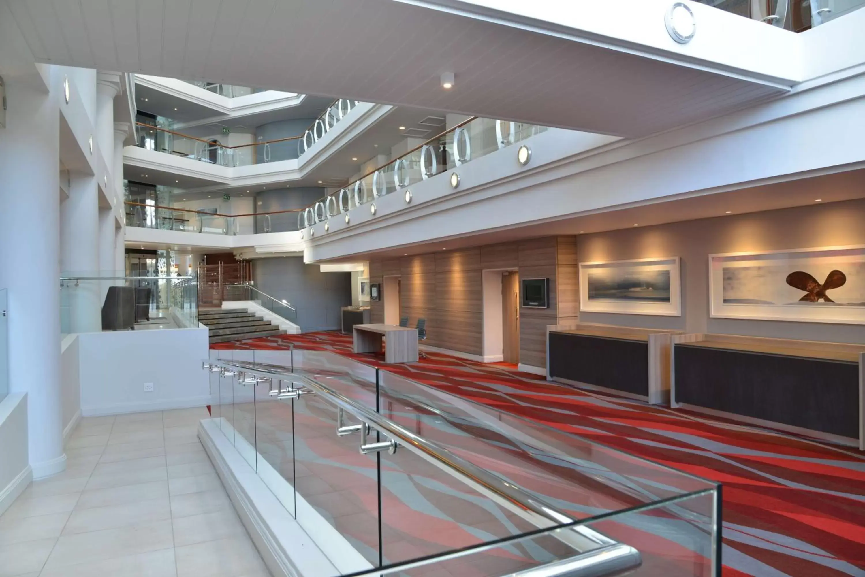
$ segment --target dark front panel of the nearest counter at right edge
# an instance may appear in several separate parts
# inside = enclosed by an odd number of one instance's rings
[[[859,437],[859,366],[675,345],[676,401]]]

